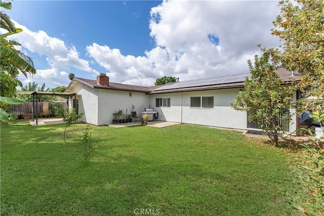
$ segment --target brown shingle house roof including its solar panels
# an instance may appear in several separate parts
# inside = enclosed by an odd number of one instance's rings
[[[295,80],[299,79],[299,75],[292,76],[292,72],[285,68],[279,68],[277,74],[282,80],[282,84],[291,84]],[[228,89],[228,88],[243,88],[244,80],[246,77],[251,77],[250,73],[232,74],[226,76],[218,76],[213,78],[204,78],[198,80],[189,80],[176,83],[167,83],[160,86],[133,86],[121,83],[109,82],[109,86],[98,85],[96,80],[89,80],[83,78],[74,78],[66,88],[65,92],[71,92],[73,86],[77,82],[83,83],[91,88],[97,89],[110,89],[121,91],[135,91],[144,92],[146,94],[163,94],[163,93],[175,93],[175,92],[187,92],[187,91],[204,91],[213,89]]]

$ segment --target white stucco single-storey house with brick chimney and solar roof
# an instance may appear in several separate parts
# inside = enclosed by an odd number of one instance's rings
[[[283,85],[291,85],[294,75],[282,68],[278,75]],[[93,125],[112,123],[113,113],[124,110],[130,114],[132,105],[137,114],[145,107],[158,112],[157,120],[184,124],[206,125],[233,129],[257,129],[248,121],[247,113],[232,109],[230,102],[244,90],[244,79],[249,73],[219,76],[169,83],[162,86],[134,86],[109,82],[105,74],[97,80],[74,78],[65,92],[76,93],[72,106],[84,112],[81,119]],[[294,94],[295,102],[297,92]],[[295,112],[291,109],[291,112]],[[297,117],[293,117],[289,131],[296,130]]]

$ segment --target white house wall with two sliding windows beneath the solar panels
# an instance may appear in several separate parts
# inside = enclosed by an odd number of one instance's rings
[[[158,120],[186,124],[207,125],[235,129],[246,129],[247,114],[232,109],[230,102],[235,100],[239,89],[219,89],[209,91],[154,94],[150,103],[158,111]],[[214,96],[213,108],[191,108],[190,97]],[[171,107],[155,107],[155,98],[171,98]],[[181,105],[182,104],[182,105]]]

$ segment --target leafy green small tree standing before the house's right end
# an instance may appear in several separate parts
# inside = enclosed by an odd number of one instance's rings
[[[259,46],[260,47],[260,46]],[[251,79],[244,81],[245,91],[240,91],[231,106],[238,111],[249,113],[249,121],[253,121],[268,134],[278,146],[278,134],[289,125],[294,87],[281,85],[276,73],[280,65],[279,51],[261,49],[262,56],[255,55],[255,63],[248,60]]]

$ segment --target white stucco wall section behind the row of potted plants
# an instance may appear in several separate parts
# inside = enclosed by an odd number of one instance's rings
[[[98,124],[112,124],[113,113],[115,111],[124,110],[124,113],[131,114],[132,104],[135,106],[136,114],[141,114],[144,107],[149,106],[149,96],[142,92],[117,91],[98,89],[99,96],[99,112]],[[132,96],[130,96],[132,93]]]

